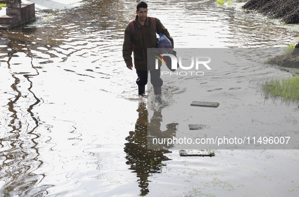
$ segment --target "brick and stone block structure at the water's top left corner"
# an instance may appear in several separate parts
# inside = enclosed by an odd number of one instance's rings
[[[35,21],[34,3],[22,4],[21,0],[6,1],[6,15],[0,17],[0,29],[7,30]]]

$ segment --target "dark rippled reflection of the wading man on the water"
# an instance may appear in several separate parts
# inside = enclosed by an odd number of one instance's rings
[[[170,123],[166,125],[166,130],[161,131],[162,115],[161,111],[155,111],[150,123],[148,122],[148,111],[146,108],[146,102],[140,102],[138,107],[138,119],[135,124],[135,131],[130,131],[130,135],[125,139],[128,141],[125,143],[124,151],[126,153],[126,164],[130,165],[130,170],[134,170],[137,174],[139,187],[141,188],[141,196],[145,196],[149,193],[148,177],[150,174],[156,174],[162,172],[163,161],[170,160],[165,155],[171,151],[168,148],[173,147],[169,145],[164,148],[157,148],[150,150],[147,148],[148,135],[157,138],[172,138],[176,136],[177,123]]]

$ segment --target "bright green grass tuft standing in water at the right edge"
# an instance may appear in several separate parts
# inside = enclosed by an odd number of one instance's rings
[[[284,100],[299,101],[299,76],[288,78],[271,78],[263,83],[263,91],[267,97],[281,97]]]

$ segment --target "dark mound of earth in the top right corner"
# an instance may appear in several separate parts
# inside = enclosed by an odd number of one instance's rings
[[[255,10],[284,23],[299,23],[298,0],[249,0],[242,9]]]

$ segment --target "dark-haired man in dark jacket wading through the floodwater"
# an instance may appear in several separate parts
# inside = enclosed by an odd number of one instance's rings
[[[136,6],[136,14],[134,20],[134,65],[136,68],[136,72],[138,75],[138,79],[136,81],[138,85],[138,94],[145,94],[145,85],[147,84],[148,78],[148,67],[147,67],[147,49],[148,48],[156,48],[157,47],[157,37],[156,33],[163,33],[168,37],[169,41],[172,43],[174,47],[174,40],[170,37],[167,29],[162,25],[159,19],[155,18],[156,22],[156,30],[153,26],[150,17],[147,17],[147,4],[145,2],[139,2]],[[124,40],[122,46],[122,56],[125,61],[126,67],[131,69],[133,68],[132,63],[132,34],[131,34],[131,25],[130,23],[126,26],[124,31]],[[172,53],[173,49],[169,51]],[[161,94],[161,86],[163,85],[163,81],[160,78],[160,68],[150,70],[151,75],[151,83],[154,88],[154,94]]]

